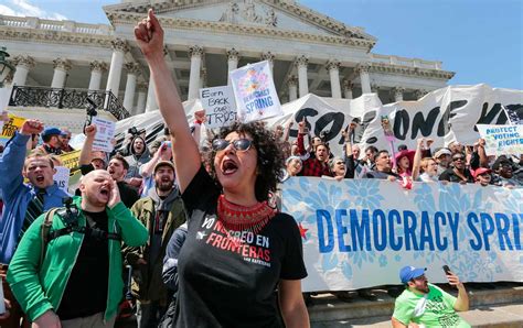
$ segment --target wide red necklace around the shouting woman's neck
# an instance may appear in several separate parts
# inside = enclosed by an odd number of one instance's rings
[[[250,231],[256,234],[277,212],[267,201],[246,207],[228,201],[224,195],[220,195],[217,204],[217,216],[228,231]]]

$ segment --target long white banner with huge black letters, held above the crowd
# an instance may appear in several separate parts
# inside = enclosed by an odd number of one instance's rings
[[[200,101],[183,103],[188,120],[194,110],[201,109]],[[382,116],[391,120],[395,146],[406,144],[416,147],[418,138],[434,139],[433,149],[447,145],[453,140],[472,145],[480,134],[476,124],[506,124],[523,121],[523,91],[497,89],[487,85],[451,86],[435,90],[418,101],[401,101],[382,105],[375,94],[365,94],[356,99],[322,98],[307,95],[282,107],[284,116],[268,119],[268,125],[285,125],[290,120],[295,125],[290,138],[298,135],[298,122],[305,117],[312,134],[327,132],[327,140],[334,154],[342,154],[342,128],[353,119],[360,121],[355,141],[363,149],[374,145],[388,150],[381,125]],[[504,110],[503,110],[504,108]],[[148,140],[162,131],[163,120],[159,111],[147,112],[117,122],[117,132],[130,127],[146,129]]]

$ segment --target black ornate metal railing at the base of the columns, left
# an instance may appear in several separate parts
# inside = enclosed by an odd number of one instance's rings
[[[117,120],[129,117],[111,91],[14,86],[9,106],[89,109],[110,112]]]

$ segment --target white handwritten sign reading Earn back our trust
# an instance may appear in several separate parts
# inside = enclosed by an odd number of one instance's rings
[[[210,129],[231,125],[236,120],[236,103],[230,86],[200,89],[200,101]]]

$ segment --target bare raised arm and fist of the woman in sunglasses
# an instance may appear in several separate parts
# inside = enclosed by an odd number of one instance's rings
[[[200,153],[191,135],[182,101],[171,77],[171,69],[163,58],[163,30],[152,9],[149,10],[148,18],[135,28],[135,36],[149,64],[158,107],[171,132],[177,177],[180,192],[183,193],[200,170]]]

